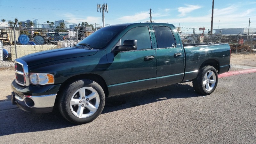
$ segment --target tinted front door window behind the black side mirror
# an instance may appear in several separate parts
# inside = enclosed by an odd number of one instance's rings
[[[131,40],[131,39],[137,40],[137,50],[151,49],[151,38],[150,38],[149,29],[147,26],[130,29],[121,38],[121,44],[124,43],[124,40]]]

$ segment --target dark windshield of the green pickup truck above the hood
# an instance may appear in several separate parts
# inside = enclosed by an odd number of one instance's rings
[[[125,26],[110,26],[100,28],[99,30],[87,36],[79,44],[89,44],[93,49],[102,49],[105,47]]]

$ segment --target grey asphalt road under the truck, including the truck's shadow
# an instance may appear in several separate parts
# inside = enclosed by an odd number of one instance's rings
[[[0,111],[0,143],[256,143],[256,73],[223,77],[211,95],[192,83],[109,98],[93,122]]]

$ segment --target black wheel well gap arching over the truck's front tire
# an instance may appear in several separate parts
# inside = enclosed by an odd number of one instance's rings
[[[90,79],[90,80],[93,80],[95,81],[96,83],[100,84],[100,86],[102,87],[104,93],[105,93],[105,97],[108,97],[108,87],[107,87],[107,84],[105,82],[105,80],[97,75],[97,74],[84,74],[84,75],[77,75],[77,76],[73,76],[73,77],[70,77],[68,78],[65,82],[63,82],[61,85],[60,85],[60,88],[59,88],[59,91],[57,93],[57,97],[59,95],[60,92],[63,91],[63,89],[68,85],[70,84],[70,82],[72,81],[76,81],[76,80],[80,80],[80,79]],[[56,98],[57,100],[58,98]],[[56,101],[55,101],[56,102]]]

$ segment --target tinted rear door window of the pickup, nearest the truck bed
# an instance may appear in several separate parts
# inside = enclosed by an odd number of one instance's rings
[[[176,42],[169,27],[153,26],[158,48],[175,47]]]

